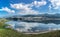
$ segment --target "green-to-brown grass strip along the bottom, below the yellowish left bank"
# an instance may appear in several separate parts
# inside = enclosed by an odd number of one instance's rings
[[[18,33],[11,29],[0,29],[0,37],[60,37],[60,31],[49,32],[45,34],[38,35],[27,35]]]

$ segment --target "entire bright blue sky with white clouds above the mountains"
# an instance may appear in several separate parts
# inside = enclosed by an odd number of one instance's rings
[[[60,0],[0,0],[0,17],[13,14],[60,13]]]

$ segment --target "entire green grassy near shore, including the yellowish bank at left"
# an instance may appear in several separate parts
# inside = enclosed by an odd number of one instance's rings
[[[54,31],[44,34],[22,34],[13,29],[5,28],[7,20],[0,19],[0,37],[60,37],[60,31]]]

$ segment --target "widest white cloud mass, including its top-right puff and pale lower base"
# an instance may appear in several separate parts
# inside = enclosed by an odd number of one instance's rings
[[[18,14],[26,15],[26,14],[40,14],[38,11],[33,10],[33,6],[35,7],[40,7],[43,5],[46,5],[46,1],[34,1],[30,4],[24,4],[24,3],[19,3],[19,4],[10,4],[12,8],[21,10]]]

